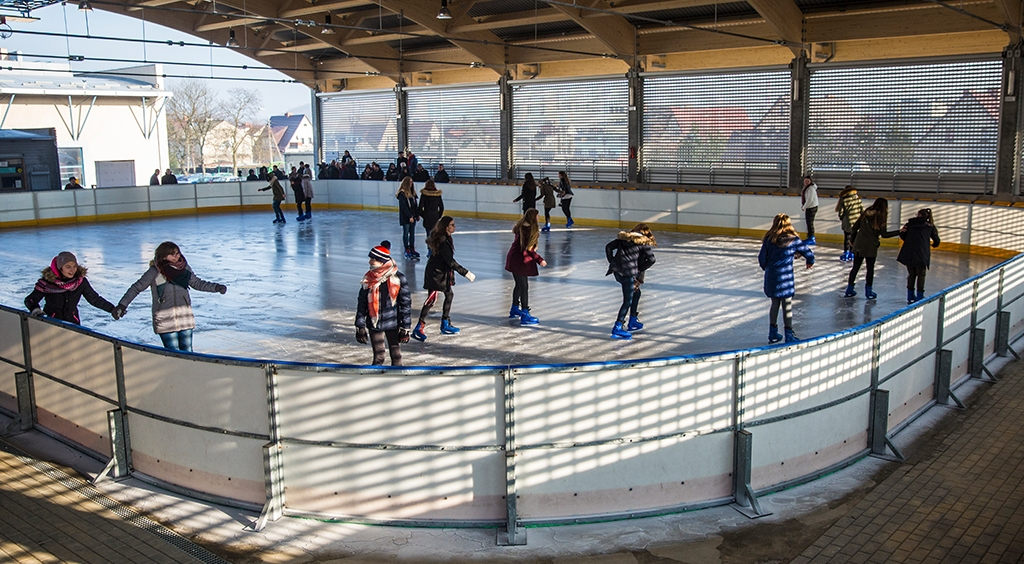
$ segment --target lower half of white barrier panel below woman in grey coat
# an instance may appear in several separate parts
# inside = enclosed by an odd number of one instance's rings
[[[130,411],[128,429],[134,471],[211,495],[259,505],[266,501],[266,440],[181,427]]]

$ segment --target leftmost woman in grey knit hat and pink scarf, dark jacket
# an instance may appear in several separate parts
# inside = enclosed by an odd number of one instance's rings
[[[85,273],[88,269],[78,263],[75,255],[65,251],[53,257],[50,265],[43,269],[32,294],[25,298],[25,307],[33,315],[46,315],[69,323],[81,324],[78,315],[78,302],[85,301],[103,311],[120,317],[115,312],[114,304],[108,302],[92,289]],[[40,309],[39,303],[44,302]]]

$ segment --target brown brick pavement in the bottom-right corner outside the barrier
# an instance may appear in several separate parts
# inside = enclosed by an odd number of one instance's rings
[[[1024,362],[998,376],[793,564],[1024,561]]]

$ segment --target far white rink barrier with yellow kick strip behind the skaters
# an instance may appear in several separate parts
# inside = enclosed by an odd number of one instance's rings
[[[0,193],[0,227],[28,227],[58,223],[269,210],[266,182],[214,182],[167,186],[130,186],[94,190]],[[445,213],[460,217],[515,220],[522,207],[513,203],[519,186],[507,184],[445,183]],[[316,180],[313,208],[396,211],[397,182]],[[783,193],[686,189],[637,190],[574,187],[572,215],[580,226],[628,228],[646,222],[655,230],[669,229],[720,235],[761,237],[777,213],[786,213],[803,227],[800,198]],[[286,214],[294,209],[291,189],[285,190]],[[865,206],[870,198],[864,196]],[[815,227],[821,242],[842,243],[843,231],[833,211],[836,200],[820,197]],[[1010,258],[1024,252],[1024,203],[985,201],[891,200],[890,227],[902,225],[918,210],[931,208],[942,240],[940,249]],[[561,210],[553,213],[561,220]],[[556,220],[557,221],[557,220]],[[556,223],[557,225],[557,223]],[[882,240],[898,245],[898,240]]]

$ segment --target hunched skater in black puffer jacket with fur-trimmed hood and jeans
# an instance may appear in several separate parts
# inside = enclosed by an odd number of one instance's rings
[[[657,242],[646,223],[638,223],[629,231],[618,231],[618,236],[604,246],[604,255],[608,259],[608,271],[604,275],[613,273],[615,281],[623,287],[623,305],[618,307],[618,315],[611,329],[612,339],[630,340],[632,332],[643,329],[638,313],[640,287],[644,273],[654,265],[654,247],[657,247]],[[627,313],[630,315],[629,324],[626,324]]]

